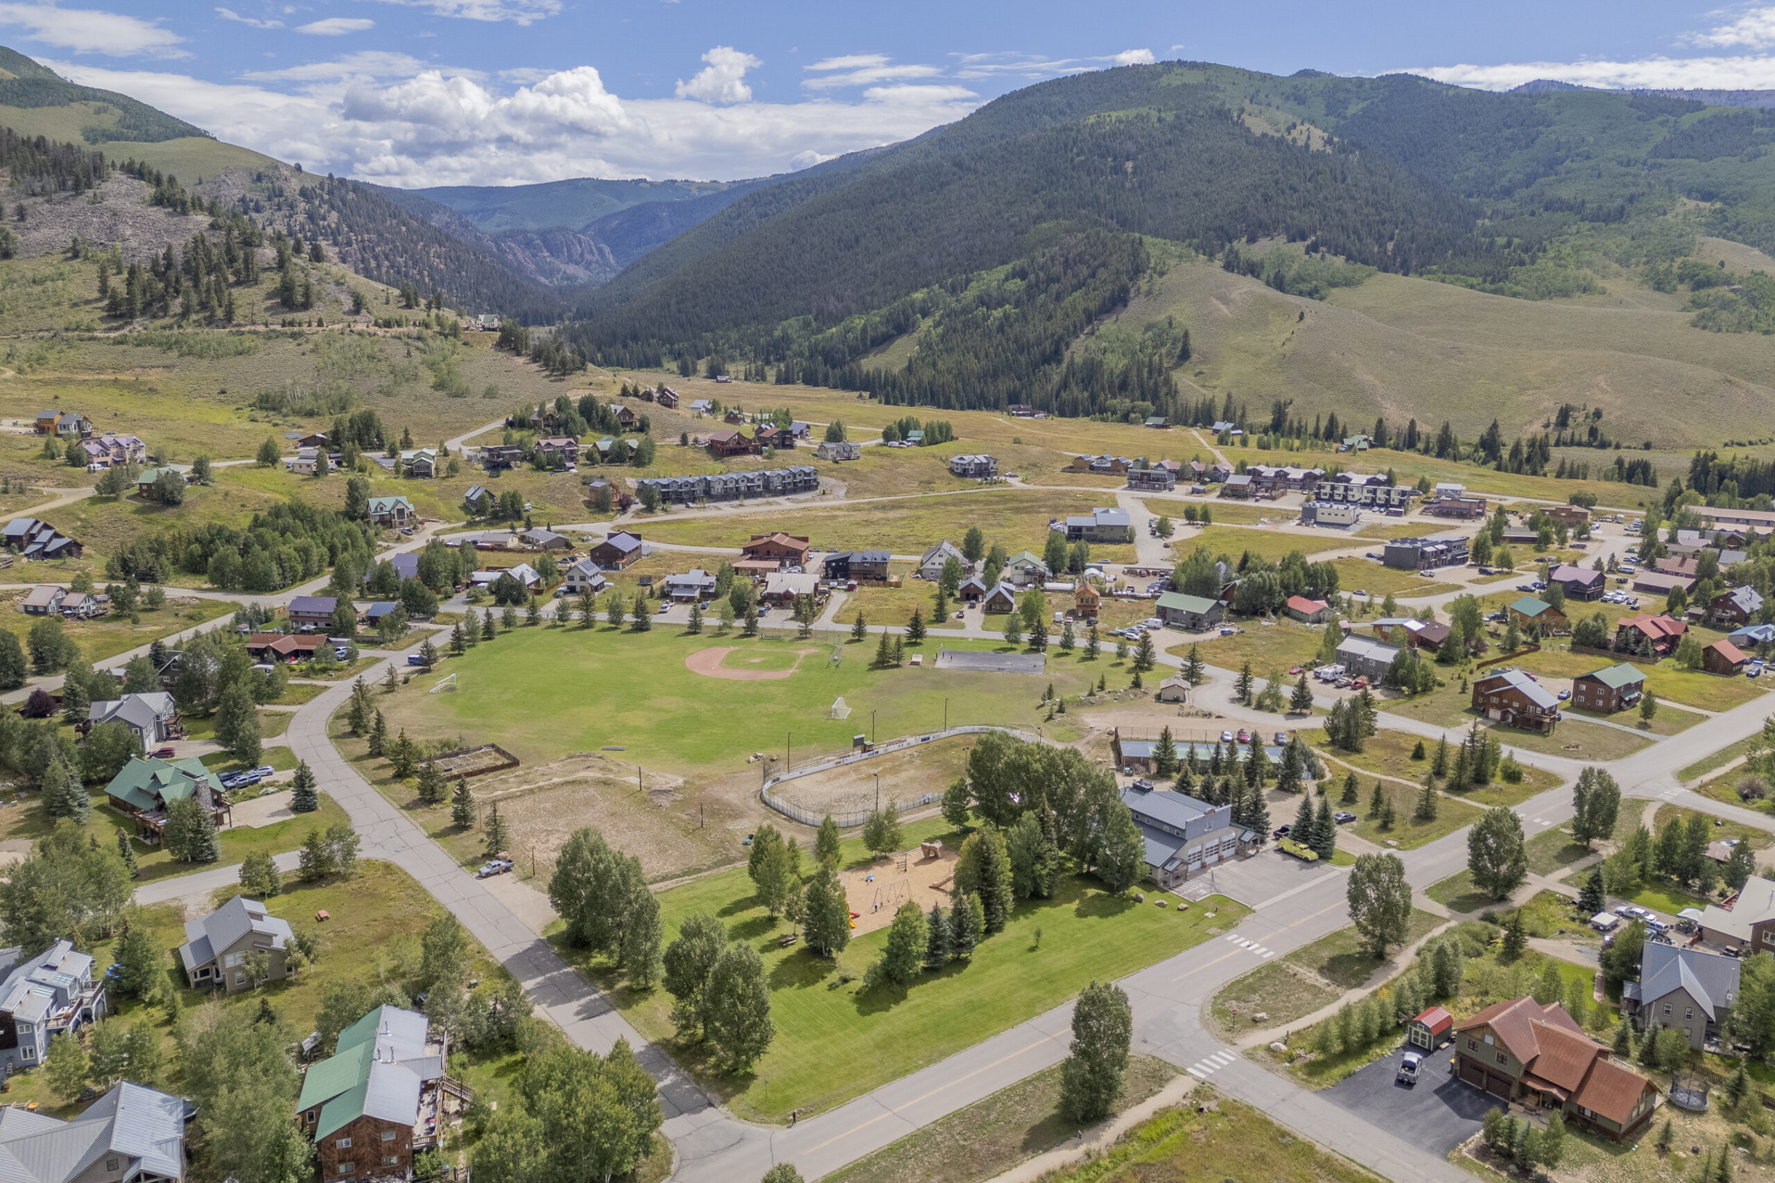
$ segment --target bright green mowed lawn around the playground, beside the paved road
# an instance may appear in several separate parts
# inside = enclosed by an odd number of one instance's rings
[[[962,841],[941,819],[905,828],[907,846],[928,837],[951,848]],[[868,860],[861,841],[845,842],[843,853],[847,867]],[[841,1105],[1060,1006],[1092,979],[1132,974],[1246,915],[1221,896],[1187,912],[1161,912],[1132,896],[1111,896],[1095,878],[1067,876],[1054,899],[1019,903],[1005,931],[982,942],[971,961],[923,974],[909,988],[866,990],[863,975],[882,954],[886,928],[854,940],[836,961],[801,944],[783,949],[777,936],[790,931],[790,922],[765,915],[746,867],[674,887],[659,899],[667,942],[687,915],[706,912],[726,922],[731,938],[758,949],[770,981],[776,1039],[749,1075],[717,1077],[699,1048],[674,1043],[669,993],[637,997],[618,990],[612,997],[644,1036],[671,1043],[706,1087],[740,1117],[758,1121]]]

